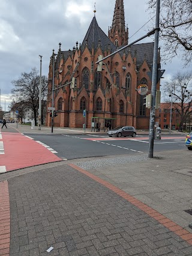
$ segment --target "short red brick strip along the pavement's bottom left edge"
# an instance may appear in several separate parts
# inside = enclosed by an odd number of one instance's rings
[[[10,255],[10,196],[8,182],[0,183],[0,255]]]

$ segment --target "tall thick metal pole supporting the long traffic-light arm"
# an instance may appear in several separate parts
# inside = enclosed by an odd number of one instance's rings
[[[155,124],[155,96],[157,87],[157,61],[158,61],[158,36],[160,23],[160,0],[157,0],[156,21],[155,21],[155,41],[154,41],[154,59],[152,67],[152,107],[149,120],[149,152],[148,157],[152,158],[154,154],[154,124]]]

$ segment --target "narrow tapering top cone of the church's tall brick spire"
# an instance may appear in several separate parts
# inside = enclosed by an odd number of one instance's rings
[[[121,30],[125,28],[125,12],[124,12],[124,0],[116,0],[115,10],[113,14],[112,28],[118,26]]]

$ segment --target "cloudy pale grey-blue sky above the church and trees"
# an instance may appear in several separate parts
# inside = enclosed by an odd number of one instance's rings
[[[0,0],[0,74],[1,106],[8,110],[12,84],[22,72],[30,72],[32,67],[48,75],[52,49],[58,52],[59,42],[62,51],[73,49],[76,42],[82,43],[94,16],[100,28],[107,34],[112,25],[115,0]],[[139,30],[151,17],[146,0],[124,0],[125,24],[128,24],[129,37]],[[154,13],[155,15],[155,13]],[[155,23],[155,18],[152,20]],[[130,38],[138,39],[149,31],[149,23]],[[153,37],[140,43],[152,42]],[[160,42],[161,46],[161,42]],[[166,69],[164,78],[170,78],[179,70],[181,60],[175,58],[161,69]],[[188,67],[190,69],[190,67]]]

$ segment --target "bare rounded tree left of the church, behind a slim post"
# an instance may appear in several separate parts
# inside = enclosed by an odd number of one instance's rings
[[[30,73],[21,73],[18,80],[11,82],[14,88],[11,90],[13,97],[19,104],[25,102],[25,105],[30,108],[34,113],[35,125],[37,125],[38,104],[39,104],[39,86],[40,76],[38,70],[34,67]],[[46,99],[47,95],[47,77],[41,77],[42,95]],[[42,100],[43,100],[42,97]]]

